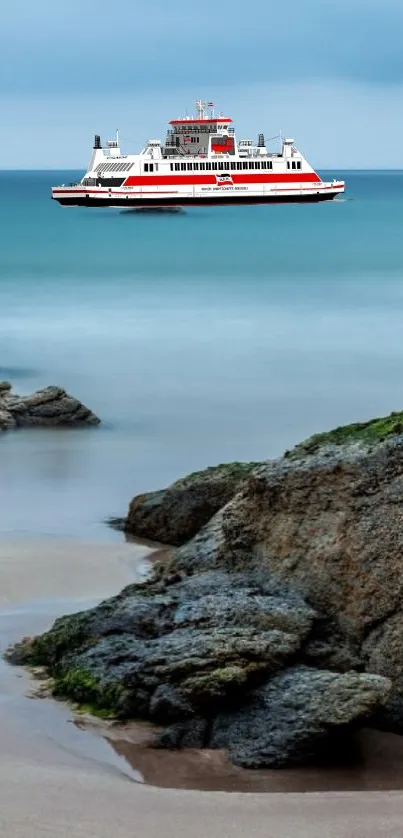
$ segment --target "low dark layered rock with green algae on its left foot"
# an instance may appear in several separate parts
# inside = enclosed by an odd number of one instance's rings
[[[300,597],[265,590],[244,574],[210,573],[163,592],[152,582],[129,586],[57,620],[9,659],[46,665],[58,694],[169,724],[210,715],[277,672],[314,616]]]

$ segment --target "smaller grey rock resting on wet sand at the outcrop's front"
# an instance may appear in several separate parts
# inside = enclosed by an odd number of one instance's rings
[[[343,728],[371,717],[390,688],[379,675],[287,669],[255,690],[239,710],[219,715],[209,745],[228,748],[231,760],[244,768],[308,762],[321,748],[329,757],[331,748],[340,748]]]

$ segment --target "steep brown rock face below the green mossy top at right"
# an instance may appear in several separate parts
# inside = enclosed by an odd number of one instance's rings
[[[265,570],[361,644],[400,608],[402,503],[403,437],[283,458],[255,471],[175,568]]]

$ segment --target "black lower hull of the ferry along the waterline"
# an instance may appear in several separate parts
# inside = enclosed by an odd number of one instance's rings
[[[332,201],[340,192],[316,192],[310,195],[284,195],[271,197],[269,195],[228,196],[208,198],[90,198],[85,195],[72,198],[53,198],[62,206],[68,207],[117,207],[120,209],[154,208],[160,207],[200,207],[200,206],[231,206],[231,204],[315,204],[318,201]]]

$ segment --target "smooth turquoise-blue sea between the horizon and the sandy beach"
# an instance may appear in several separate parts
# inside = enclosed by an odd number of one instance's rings
[[[1,436],[0,533],[120,538],[139,491],[402,408],[403,173],[160,215],[61,208],[75,175],[0,173],[0,378],[103,425]]]

